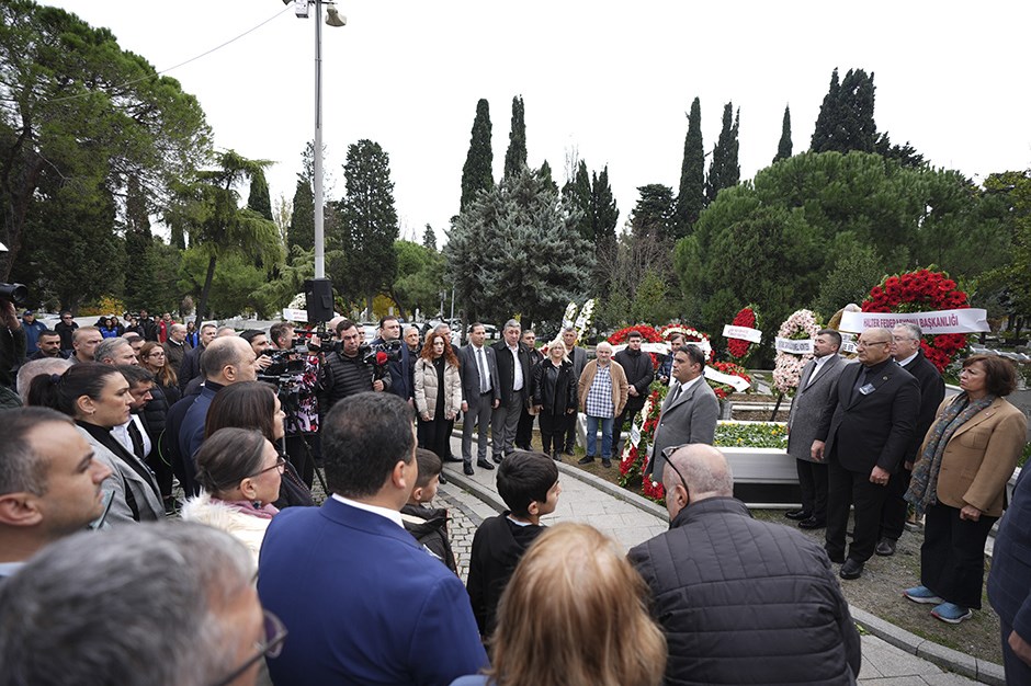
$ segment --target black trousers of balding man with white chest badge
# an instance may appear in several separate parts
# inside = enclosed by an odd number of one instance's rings
[[[871,467],[871,469],[873,469]],[[845,553],[849,507],[854,505],[856,526],[849,558],[865,562],[873,557],[881,530],[881,507],[887,487],[870,482],[870,472],[849,471],[837,460],[827,465],[827,554],[834,559]]]

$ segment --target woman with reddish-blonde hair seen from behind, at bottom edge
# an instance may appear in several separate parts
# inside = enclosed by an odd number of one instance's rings
[[[530,546],[498,606],[487,675],[452,686],[657,686],[666,638],[623,551],[586,524],[559,524]]]

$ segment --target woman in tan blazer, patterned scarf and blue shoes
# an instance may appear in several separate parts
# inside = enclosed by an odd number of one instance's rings
[[[1006,482],[1028,434],[1023,413],[1002,399],[1017,387],[1012,364],[975,355],[963,363],[961,393],[947,398],[920,448],[906,500],[927,514],[920,582],[905,596],[934,605],[949,624],[981,609],[985,540],[1002,514]]]

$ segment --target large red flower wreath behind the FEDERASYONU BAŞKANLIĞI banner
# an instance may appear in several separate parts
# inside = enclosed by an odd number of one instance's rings
[[[864,312],[921,312],[953,310],[970,307],[966,294],[944,272],[918,270],[887,276],[881,285],[870,289],[863,300]],[[925,335],[920,342],[924,355],[939,371],[944,371],[956,355],[966,347],[966,334],[940,333]]]

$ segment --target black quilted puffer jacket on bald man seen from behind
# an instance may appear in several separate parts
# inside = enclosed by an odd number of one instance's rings
[[[711,498],[628,558],[666,631],[666,684],[856,683],[848,604],[823,548],[798,531]]]

